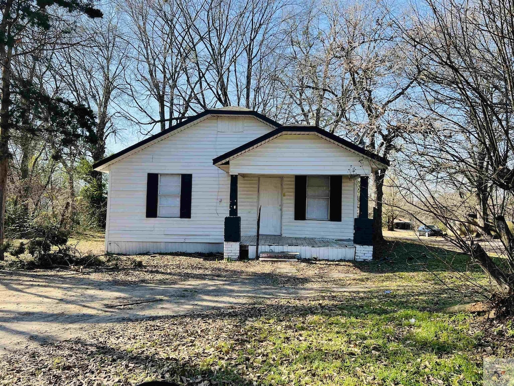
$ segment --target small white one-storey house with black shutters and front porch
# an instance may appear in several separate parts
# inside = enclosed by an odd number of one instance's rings
[[[94,165],[111,253],[299,252],[371,259],[368,176],[388,161],[314,126],[207,110]],[[357,187],[360,180],[360,213]]]

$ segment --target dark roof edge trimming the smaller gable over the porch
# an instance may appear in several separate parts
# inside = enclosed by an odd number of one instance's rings
[[[227,164],[232,158],[235,158],[236,156],[241,155],[242,153],[245,153],[246,151],[250,151],[256,147],[259,147],[259,146],[263,145],[264,143],[271,141],[271,139],[277,138],[284,134],[315,134],[319,137],[327,139],[328,141],[335,142],[336,144],[339,144],[342,147],[350,149],[356,153],[362,154],[369,159],[378,161],[379,163],[381,163],[385,166],[389,166],[389,160],[386,159],[385,157],[382,157],[382,156],[375,154],[369,150],[366,150],[358,145],[355,145],[354,143],[352,143],[350,141],[346,141],[346,139],[343,139],[335,134],[329,133],[326,130],[320,129],[317,126],[308,126],[308,125],[280,126],[276,130],[273,130],[273,131],[270,131],[269,133],[261,135],[259,138],[253,139],[253,141],[247,142],[246,144],[241,145],[240,147],[237,147],[233,150],[226,152],[225,154],[222,154],[222,155],[216,157],[215,159],[212,160],[212,163],[213,163],[213,165]]]

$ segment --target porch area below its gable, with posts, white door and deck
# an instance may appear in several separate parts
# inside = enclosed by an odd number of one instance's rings
[[[326,180],[328,188],[326,206],[314,214],[309,179]],[[301,259],[371,258],[368,177],[245,173],[231,174],[230,181],[224,239],[228,258],[254,259],[263,252],[297,253]]]

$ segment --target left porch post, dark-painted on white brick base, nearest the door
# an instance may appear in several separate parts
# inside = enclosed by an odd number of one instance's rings
[[[225,217],[223,257],[238,260],[241,244],[241,217],[237,216],[237,174],[230,176],[229,216]]]

